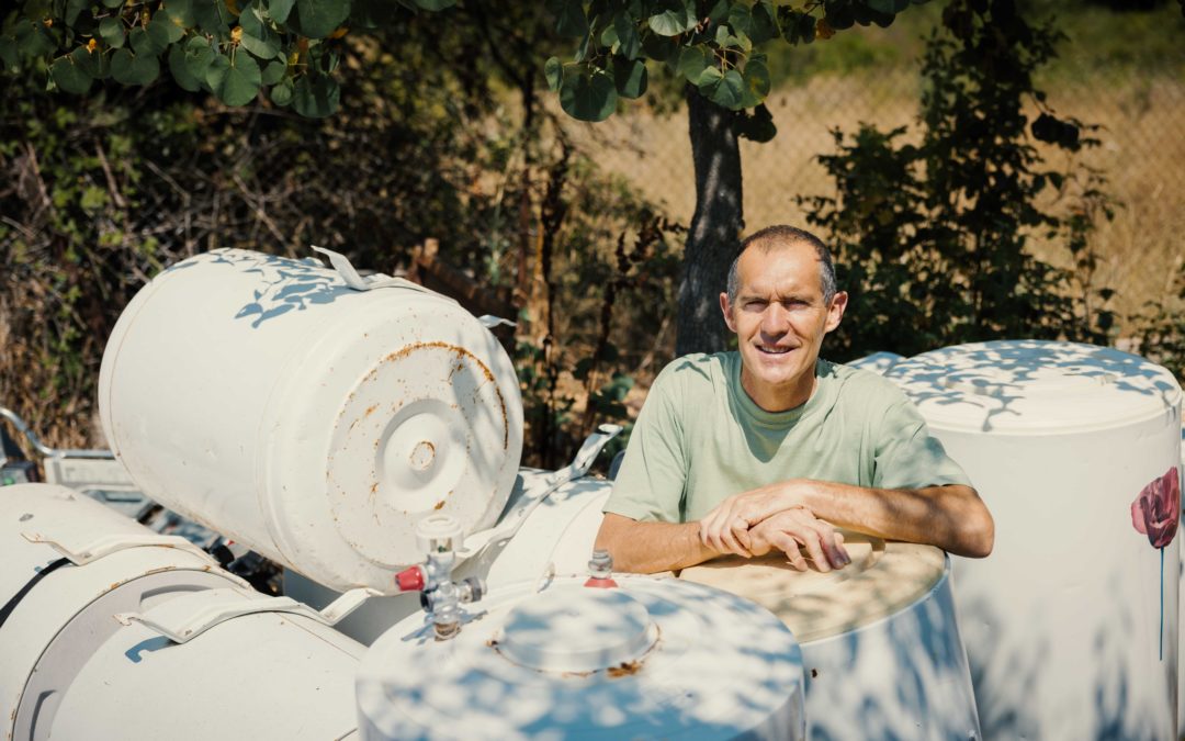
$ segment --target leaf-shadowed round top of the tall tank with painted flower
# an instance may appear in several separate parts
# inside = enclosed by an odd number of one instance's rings
[[[1164,368],[1110,347],[999,340],[927,352],[885,376],[937,429],[1050,434],[1174,414],[1180,387]]]

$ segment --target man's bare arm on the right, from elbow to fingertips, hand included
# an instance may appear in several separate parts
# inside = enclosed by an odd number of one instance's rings
[[[744,542],[750,528],[794,507],[805,507],[833,525],[937,545],[959,556],[987,556],[995,541],[992,515],[971,486],[866,488],[809,479],[729,497],[700,520],[700,541],[705,548],[719,548],[729,538]]]

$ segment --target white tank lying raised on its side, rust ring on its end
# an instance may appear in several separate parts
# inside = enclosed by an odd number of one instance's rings
[[[100,410],[153,499],[326,586],[389,590],[419,519],[501,512],[523,408],[455,301],[353,277],[244,250],[168,268],[120,317]]]

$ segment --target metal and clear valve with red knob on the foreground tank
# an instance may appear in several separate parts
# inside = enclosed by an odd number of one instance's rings
[[[395,575],[399,592],[419,592],[419,603],[433,622],[437,640],[461,632],[461,605],[476,602],[486,592],[481,579],[453,581],[456,551],[463,545],[461,524],[448,515],[434,515],[416,525],[416,544],[427,554],[424,563]]]

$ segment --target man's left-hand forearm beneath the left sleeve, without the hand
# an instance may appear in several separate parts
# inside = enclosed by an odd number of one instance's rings
[[[608,512],[596,536],[596,548],[608,550],[617,571],[671,571],[720,555],[699,541],[699,523],[638,522]]]

